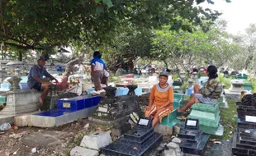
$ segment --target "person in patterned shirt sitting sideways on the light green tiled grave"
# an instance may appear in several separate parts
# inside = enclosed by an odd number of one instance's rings
[[[213,65],[207,68],[207,76],[209,79],[206,84],[200,90],[200,85],[194,85],[194,94],[191,95],[191,99],[183,106],[183,108],[178,108],[177,112],[186,113],[188,108],[191,108],[194,103],[217,103],[220,99],[220,94],[222,92],[222,85],[217,75],[217,68]]]

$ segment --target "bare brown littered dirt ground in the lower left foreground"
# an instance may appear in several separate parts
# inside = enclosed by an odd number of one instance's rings
[[[4,134],[0,135],[0,156],[69,155],[70,150],[80,144],[83,139],[83,135],[86,135],[91,131],[110,130],[110,127],[93,125],[92,123],[89,123],[88,128],[84,128],[88,122],[88,120],[78,119],[77,122],[54,128],[19,127],[18,130],[11,129],[9,131],[5,131]],[[31,141],[31,143],[22,140],[23,137],[31,134],[33,134],[32,137],[34,137],[32,138],[33,141]],[[50,144],[47,147],[44,147],[44,144],[47,143],[44,143],[44,141],[41,141],[42,143],[40,143],[39,136],[42,134],[55,138],[59,144]],[[35,142],[38,140],[39,143],[35,144],[34,140]],[[47,138],[45,140],[47,140]],[[33,148],[36,148],[36,153],[31,152]],[[17,154],[15,154],[16,151]]]

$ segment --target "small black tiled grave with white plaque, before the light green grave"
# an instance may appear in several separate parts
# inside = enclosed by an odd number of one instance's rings
[[[197,119],[187,118],[178,138],[182,140],[180,148],[183,153],[202,155],[205,152],[206,143],[210,135],[201,131],[200,121]]]

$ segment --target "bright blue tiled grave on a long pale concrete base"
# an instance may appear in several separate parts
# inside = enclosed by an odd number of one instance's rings
[[[92,116],[96,111],[100,96],[78,96],[70,99],[59,99],[58,108],[31,115],[31,126],[52,127],[76,121],[78,118]]]

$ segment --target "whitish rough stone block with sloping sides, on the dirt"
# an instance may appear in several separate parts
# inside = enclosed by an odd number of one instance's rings
[[[80,146],[89,149],[101,149],[112,143],[111,135],[105,131],[95,131],[89,135],[84,135]]]

